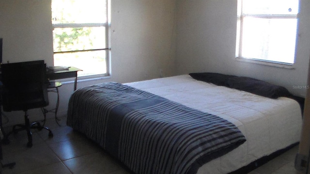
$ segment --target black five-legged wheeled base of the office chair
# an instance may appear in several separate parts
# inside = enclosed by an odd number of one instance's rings
[[[19,128],[17,129],[16,127],[19,127]],[[33,122],[33,123],[30,124],[27,111],[25,111],[25,125],[22,125],[22,124],[14,125],[13,126],[13,131],[11,131],[8,134],[4,135],[4,138],[3,138],[2,142],[4,144],[9,144],[10,141],[8,139],[8,136],[10,134],[26,130],[27,131],[27,136],[28,136],[27,147],[32,147],[32,133],[31,133],[31,129],[37,129],[39,131],[41,131],[42,129],[46,129],[48,131],[48,137],[52,138],[54,136],[50,129],[48,129],[47,127],[41,126],[41,124],[39,122]]]

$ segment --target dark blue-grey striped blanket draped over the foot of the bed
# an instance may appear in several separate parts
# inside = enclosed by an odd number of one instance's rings
[[[113,82],[75,91],[67,125],[137,174],[195,174],[246,141],[225,119]]]

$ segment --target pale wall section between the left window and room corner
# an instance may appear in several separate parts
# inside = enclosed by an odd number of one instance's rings
[[[132,82],[158,78],[160,70],[173,75],[174,0],[111,1],[112,77]]]

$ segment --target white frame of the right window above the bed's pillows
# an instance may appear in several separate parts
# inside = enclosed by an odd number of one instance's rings
[[[243,0],[237,0],[237,33],[236,33],[236,50],[235,50],[235,59],[238,61],[245,61],[257,64],[263,64],[268,66],[274,66],[279,68],[294,69],[294,63],[296,59],[296,51],[298,44],[298,26],[299,26],[299,9],[300,2],[298,2],[298,12],[297,14],[244,14],[243,13]],[[243,37],[243,20],[245,17],[253,18],[263,18],[263,19],[296,19],[296,34],[295,34],[295,47],[294,47],[294,59],[293,63],[281,62],[266,60],[260,58],[247,58],[242,57],[242,37]]]

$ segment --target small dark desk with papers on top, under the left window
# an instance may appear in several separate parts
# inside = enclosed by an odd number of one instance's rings
[[[49,80],[65,79],[72,78],[74,79],[74,90],[77,90],[77,81],[78,81],[78,71],[82,71],[76,67],[69,67],[68,70],[61,71],[47,71],[47,78]]]

